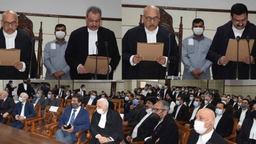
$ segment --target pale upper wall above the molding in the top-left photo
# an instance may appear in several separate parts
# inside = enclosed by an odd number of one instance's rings
[[[102,10],[102,17],[121,18],[121,0],[1,0],[0,10],[36,14],[85,16],[92,5]]]

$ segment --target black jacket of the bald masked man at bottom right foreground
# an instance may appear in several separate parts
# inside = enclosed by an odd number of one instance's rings
[[[196,131],[190,132],[188,137],[188,144],[195,144],[198,142],[199,134]],[[221,135],[217,134],[217,132],[213,131],[211,138],[206,142],[206,144],[228,144]]]

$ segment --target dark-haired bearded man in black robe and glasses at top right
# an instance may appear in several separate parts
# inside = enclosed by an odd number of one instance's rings
[[[231,19],[229,22],[217,28],[213,43],[209,48],[206,58],[213,62],[212,73],[213,79],[236,79],[237,63],[226,58],[226,48],[229,39],[256,39],[256,26],[248,20],[247,7],[242,3],[236,3],[231,8]],[[242,58],[242,62],[238,62],[238,79],[249,79],[249,65],[251,65],[251,79],[256,79],[255,57],[256,45],[253,45],[250,56]],[[247,46],[244,48],[248,53]],[[249,55],[249,53],[248,53]],[[250,63],[251,59],[251,63]]]

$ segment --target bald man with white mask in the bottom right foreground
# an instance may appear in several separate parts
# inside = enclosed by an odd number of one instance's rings
[[[194,143],[227,143],[221,135],[213,129],[215,113],[211,109],[203,108],[196,113],[194,130],[188,137],[188,144]]]

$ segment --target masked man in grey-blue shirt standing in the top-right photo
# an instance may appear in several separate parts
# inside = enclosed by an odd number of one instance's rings
[[[211,46],[211,39],[203,35],[204,22],[196,18],[192,22],[194,35],[182,41],[181,60],[184,65],[182,79],[211,79],[211,61],[205,56]]]

